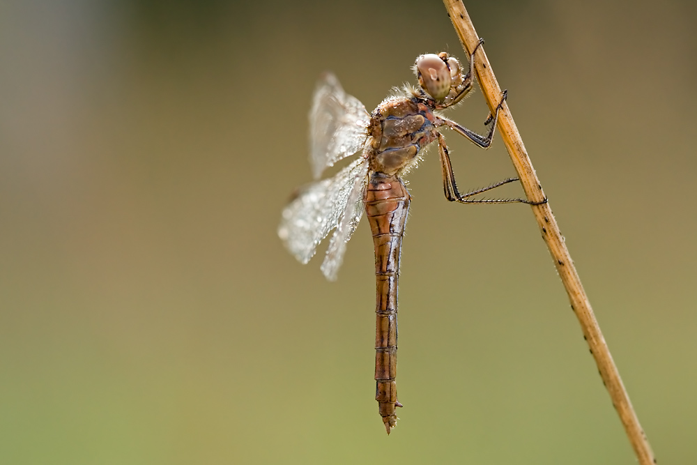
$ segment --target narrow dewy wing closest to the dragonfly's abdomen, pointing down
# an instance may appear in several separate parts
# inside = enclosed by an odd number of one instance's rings
[[[358,222],[363,216],[363,195],[365,194],[365,185],[368,181],[368,164],[360,166],[360,171],[355,173],[351,194],[346,202],[346,210],[344,215],[334,231],[332,240],[329,242],[327,254],[322,262],[321,270],[325,277],[330,281],[337,279],[339,267],[344,261],[344,252],[346,252],[346,243],[351,239],[353,231],[358,227]]]

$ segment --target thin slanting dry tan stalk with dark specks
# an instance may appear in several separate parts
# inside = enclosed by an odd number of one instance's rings
[[[467,10],[461,0],[443,0],[443,3],[445,3],[445,9],[460,38],[460,42],[469,56],[470,52],[477,46],[480,38],[477,36],[472,21],[467,14]],[[482,93],[484,93],[484,98],[487,100],[489,109],[493,112],[500,101],[501,88],[496,81],[496,77],[493,75],[489,59],[487,59],[487,55],[484,53],[484,47],[480,47],[477,50],[475,56],[475,70],[479,78]],[[518,171],[518,175],[521,178],[521,184],[523,185],[523,190],[525,190],[528,200],[535,202],[544,201],[545,196],[544,192],[542,192],[542,185],[540,185],[537,179],[535,169],[530,163],[530,158],[528,158],[523,140],[521,139],[521,135],[518,132],[518,128],[516,128],[516,124],[513,121],[513,117],[506,103],[504,103],[498,116],[498,129],[501,132],[501,137],[506,145],[513,165],[516,167],[516,171]],[[592,353],[593,358],[595,358],[600,376],[620,416],[622,425],[625,427],[629,442],[634,448],[639,464],[655,464],[656,459],[654,458],[651,446],[639,424],[634,408],[631,406],[631,402],[629,402],[627,390],[625,390],[625,386],[622,384],[620,373],[612,359],[597,319],[595,319],[588,297],[583,290],[581,279],[579,278],[579,274],[576,273],[574,262],[569,255],[569,250],[567,250],[564,243],[564,238],[559,231],[549,203],[533,205],[531,208],[537,219],[537,224],[539,224],[539,229],[542,231],[542,238],[547,244],[549,252],[554,259],[554,266],[556,266],[559,277],[569,295],[572,309],[579,319],[583,337],[588,342],[590,353]]]

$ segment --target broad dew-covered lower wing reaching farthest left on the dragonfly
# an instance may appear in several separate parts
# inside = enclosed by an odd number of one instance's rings
[[[298,261],[306,264],[315,254],[322,239],[343,223],[349,199],[353,201],[351,208],[355,208],[355,195],[360,197],[360,194],[354,194],[353,191],[356,190],[356,186],[365,184],[367,173],[368,162],[361,156],[333,178],[323,179],[302,188],[298,196],[284,208],[278,236]],[[360,199],[362,201],[362,197]],[[351,228],[355,229],[358,220],[360,215],[355,224],[348,224],[347,229],[342,229],[342,234],[346,234],[345,231],[353,231]],[[345,238],[346,241],[348,236]],[[341,257],[339,264],[340,262]]]

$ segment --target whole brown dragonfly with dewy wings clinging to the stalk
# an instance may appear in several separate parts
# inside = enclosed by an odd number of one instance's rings
[[[450,128],[481,148],[489,148],[506,100],[503,91],[493,114],[484,122],[486,136],[445,118],[441,111],[457,105],[473,89],[474,59],[480,40],[463,72],[459,61],[446,52],[418,56],[413,66],[419,86],[405,85],[385,98],[372,113],[342,89],[338,79],[325,73],[316,86],[310,123],[310,155],[314,183],[300,188],[284,208],[278,235],[302,264],[333,230],[322,273],[337,279],[346,243],[365,215],[372,231],[376,276],[375,381],[378,411],[388,434],[397,425],[397,285],[404,225],[411,197],[402,176],[422,158],[427,146],[437,143],[443,167],[443,190],[449,201],[463,204],[502,204],[526,199],[473,199],[500,185],[519,181],[507,178],[486,188],[461,194],[455,183],[443,128]],[[355,156],[331,178],[323,171]],[[544,201],[542,202],[544,203]]]

